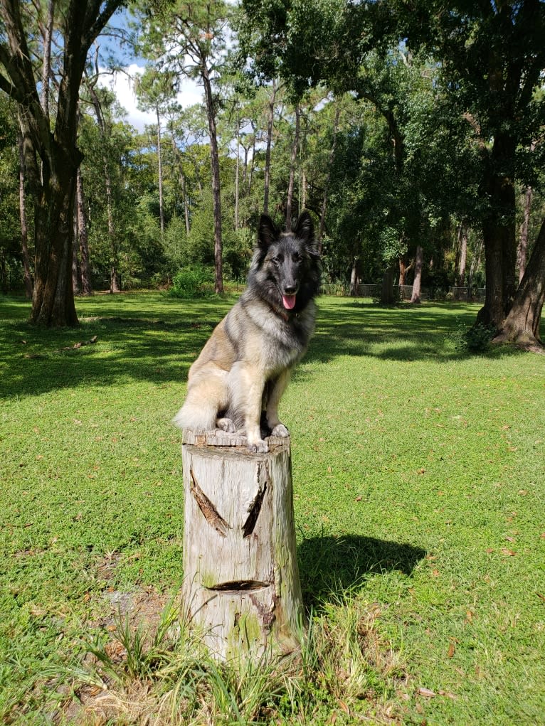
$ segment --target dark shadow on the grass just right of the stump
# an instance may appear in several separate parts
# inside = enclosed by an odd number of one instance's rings
[[[410,575],[426,555],[412,544],[355,534],[303,539],[297,560],[304,605],[314,608],[331,595],[355,594],[372,574]]]

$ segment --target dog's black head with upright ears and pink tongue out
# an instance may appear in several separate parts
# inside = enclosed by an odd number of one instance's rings
[[[261,216],[248,282],[252,293],[284,315],[301,311],[318,294],[320,257],[308,212],[291,232],[280,232],[269,216]]]

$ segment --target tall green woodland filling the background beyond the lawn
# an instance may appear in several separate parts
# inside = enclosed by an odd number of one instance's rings
[[[144,133],[99,83],[112,34],[148,58]],[[326,282],[379,282],[384,303],[485,285],[478,321],[538,344],[544,37],[539,0],[7,0],[0,285],[44,325],[192,266],[221,293],[262,211],[307,208]],[[181,108],[187,77],[203,102]]]

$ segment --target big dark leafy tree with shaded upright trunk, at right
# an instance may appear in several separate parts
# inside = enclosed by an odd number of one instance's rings
[[[501,330],[517,287],[515,180],[520,149],[545,121],[536,96],[545,66],[545,3],[540,0],[404,0],[383,4],[413,49],[442,65],[453,105],[480,150],[486,299],[478,319]],[[396,17],[397,16],[397,17]]]

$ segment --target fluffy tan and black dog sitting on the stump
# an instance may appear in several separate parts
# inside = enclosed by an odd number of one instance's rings
[[[278,403],[314,333],[319,287],[310,214],[304,211],[288,232],[263,214],[246,289],[190,367],[174,423],[243,432],[251,452],[267,452],[269,434],[289,436]]]

